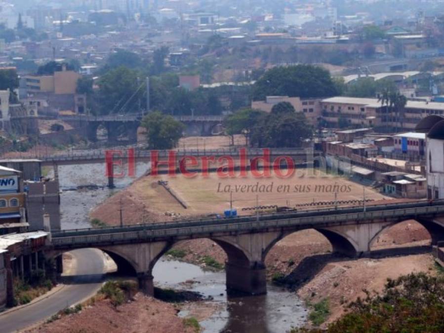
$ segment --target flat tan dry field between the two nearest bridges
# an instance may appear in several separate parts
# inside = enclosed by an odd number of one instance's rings
[[[168,182],[169,187],[187,205],[187,209],[181,207],[161,185],[158,185],[159,180]],[[333,201],[335,191],[338,192],[338,200],[363,198],[362,185],[347,178],[319,172],[309,177],[306,170],[300,170],[299,175],[294,174],[291,178],[254,178],[250,173],[246,178],[219,178],[216,173],[210,173],[207,178],[201,174],[194,178],[186,178],[181,174],[175,177],[147,176],[133,184],[129,191],[146,202],[152,211],[169,211],[180,213],[182,216],[222,214],[225,209],[230,208],[230,194],[233,208],[236,208],[239,214],[252,213],[242,212],[242,208],[256,206],[256,196],[260,206],[290,207],[313,201]],[[390,199],[368,187],[365,189],[365,196],[373,200]]]

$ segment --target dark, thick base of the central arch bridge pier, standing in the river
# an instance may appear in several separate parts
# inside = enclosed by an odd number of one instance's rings
[[[229,294],[267,294],[266,269],[262,262],[255,262],[252,266],[241,266],[227,262],[225,271],[227,292]]]

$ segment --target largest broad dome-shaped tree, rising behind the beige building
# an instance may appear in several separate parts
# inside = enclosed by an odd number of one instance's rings
[[[330,73],[311,65],[275,67],[260,77],[253,88],[254,100],[264,100],[266,96],[310,98],[337,94]]]

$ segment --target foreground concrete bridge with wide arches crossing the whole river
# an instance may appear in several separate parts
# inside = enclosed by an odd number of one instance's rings
[[[227,254],[227,290],[265,294],[265,257],[290,233],[315,229],[331,243],[333,252],[349,257],[368,254],[372,243],[387,228],[416,220],[430,233],[432,244],[444,240],[444,201],[417,201],[296,213],[204,219],[182,222],[79,229],[52,233],[46,252],[55,257],[79,248],[108,253],[125,273],[137,275],[140,288],[153,295],[153,267],[177,242],[209,238]],[[440,221],[441,219],[441,221]]]

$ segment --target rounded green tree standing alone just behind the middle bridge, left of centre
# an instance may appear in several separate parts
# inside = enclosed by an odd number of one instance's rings
[[[147,130],[150,149],[172,149],[177,146],[185,125],[160,111],[150,112],[141,123]]]

